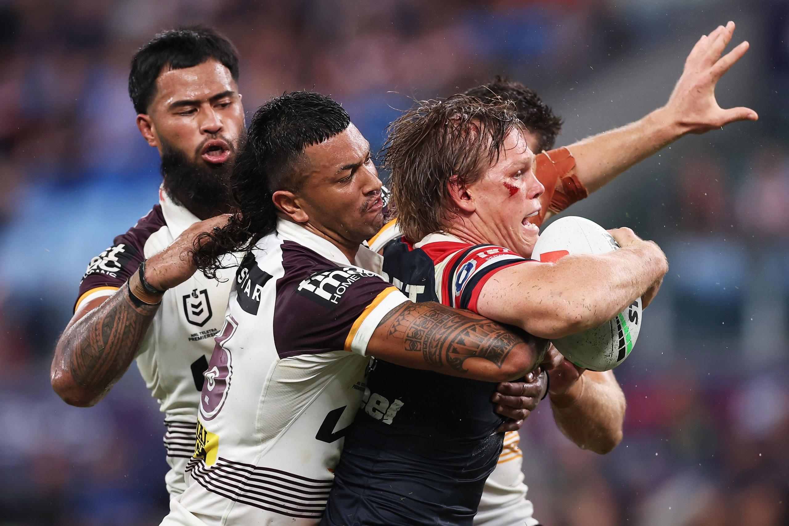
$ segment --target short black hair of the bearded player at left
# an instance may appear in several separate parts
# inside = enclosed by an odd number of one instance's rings
[[[165,67],[181,70],[215,59],[238,82],[238,51],[233,43],[204,25],[170,29],[154,36],[132,58],[129,97],[137,113],[148,113],[156,92],[156,79]]]

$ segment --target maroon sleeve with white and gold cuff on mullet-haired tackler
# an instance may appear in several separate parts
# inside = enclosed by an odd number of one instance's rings
[[[277,292],[274,337],[281,358],[327,351],[365,355],[380,321],[409,301],[374,272],[335,267]]]

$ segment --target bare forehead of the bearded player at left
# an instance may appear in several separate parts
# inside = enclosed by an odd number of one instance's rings
[[[207,100],[217,93],[235,91],[235,87],[230,70],[214,59],[180,70],[165,66],[156,78],[152,103],[167,105],[177,100]]]

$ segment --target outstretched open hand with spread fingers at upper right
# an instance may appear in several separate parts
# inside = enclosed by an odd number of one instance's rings
[[[748,107],[724,109],[715,100],[715,86],[731,66],[748,51],[748,42],[739,43],[723,57],[720,55],[731,41],[735,23],[718,26],[709,35],[701,36],[685,61],[682,77],[668,98],[664,110],[683,133],[705,133],[730,122],[756,121],[759,116]]]

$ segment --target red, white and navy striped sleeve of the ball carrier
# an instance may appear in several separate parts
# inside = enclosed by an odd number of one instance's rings
[[[444,297],[448,296],[456,309],[477,312],[482,287],[496,272],[533,261],[503,246],[471,246],[458,252],[444,268],[443,286],[447,288]]]

